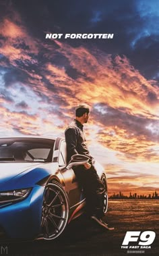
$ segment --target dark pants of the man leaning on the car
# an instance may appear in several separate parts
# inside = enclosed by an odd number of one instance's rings
[[[84,188],[86,196],[86,213],[88,216],[96,214],[98,217],[104,216],[104,184],[102,184],[94,165],[90,169],[79,165],[73,168],[79,185]]]

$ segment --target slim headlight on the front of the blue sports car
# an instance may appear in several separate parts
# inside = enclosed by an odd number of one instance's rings
[[[28,196],[31,189],[32,188],[24,188],[0,192],[0,203],[22,200]]]

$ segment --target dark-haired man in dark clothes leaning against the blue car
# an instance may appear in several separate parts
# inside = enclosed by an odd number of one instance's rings
[[[88,163],[73,168],[79,184],[84,188],[86,196],[86,213],[100,226],[109,229],[102,221],[104,185],[102,184],[96,169],[94,168],[94,158],[90,155],[86,145],[83,124],[88,122],[90,107],[80,104],[75,109],[75,120],[65,130],[65,141],[67,144],[67,161],[72,155],[81,154],[89,157]]]

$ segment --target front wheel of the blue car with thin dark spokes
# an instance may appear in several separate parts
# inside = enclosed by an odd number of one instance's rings
[[[57,238],[65,229],[69,217],[69,201],[57,181],[46,184],[42,203],[41,232],[45,240]]]

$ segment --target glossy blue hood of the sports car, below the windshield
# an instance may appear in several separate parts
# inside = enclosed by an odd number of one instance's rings
[[[53,169],[53,163],[0,163],[0,191],[36,186]]]

